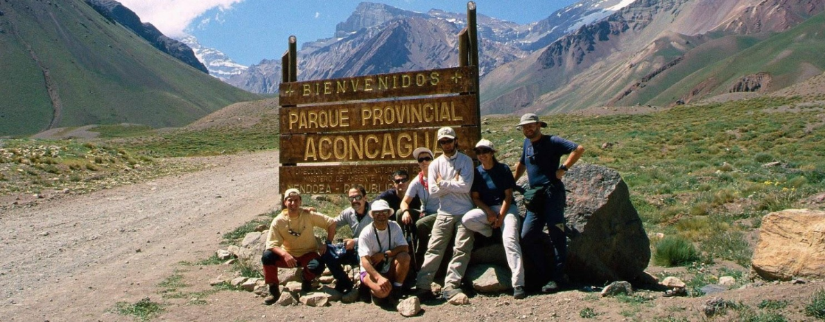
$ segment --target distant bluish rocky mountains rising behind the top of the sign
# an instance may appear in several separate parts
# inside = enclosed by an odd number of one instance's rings
[[[527,25],[479,15],[481,75],[526,58],[568,30],[607,16],[628,3],[628,0],[585,0]],[[336,26],[334,37],[302,45],[298,78],[349,77],[457,66],[456,35],[464,28],[466,19],[465,13],[436,9],[426,13],[410,12],[362,2],[347,21]],[[273,93],[281,81],[280,63],[280,58],[265,59],[227,82],[247,91]]]

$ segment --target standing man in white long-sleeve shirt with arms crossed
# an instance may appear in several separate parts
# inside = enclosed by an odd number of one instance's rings
[[[430,164],[427,185],[430,198],[439,198],[441,205],[416,283],[417,296],[425,300],[432,298],[430,285],[441,266],[441,259],[444,258],[450,240],[455,236],[453,258],[450,259],[444,281],[446,300],[462,293],[461,278],[467,270],[470,251],[473,250],[473,231],[461,224],[461,217],[474,208],[469,192],[473,185],[473,160],[458,151],[455,130],[452,128],[438,129],[438,144],[444,154]]]

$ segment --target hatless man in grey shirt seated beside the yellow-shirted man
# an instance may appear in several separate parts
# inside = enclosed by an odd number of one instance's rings
[[[341,228],[342,226],[350,226],[352,230],[352,237],[344,240],[344,254],[336,254],[334,251],[328,251],[323,254],[321,258],[327,264],[330,273],[335,277],[335,289],[338,292],[347,293],[352,289],[352,281],[350,277],[344,272],[342,264],[357,265],[361,263],[358,259],[358,236],[367,226],[372,222],[372,217],[367,212],[370,211],[370,203],[366,201],[366,189],[361,184],[354,184],[352,188],[347,191],[347,198],[350,200],[350,208],[344,209],[338,217],[335,218],[335,226]]]

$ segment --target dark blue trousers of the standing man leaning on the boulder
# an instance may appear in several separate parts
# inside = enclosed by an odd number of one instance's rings
[[[564,234],[567,196],[561,183],[549,190],[550,195],[541,212],[526,212],[521,226],[521,250],[525,261],[533,264],[536,276],[558,281],[563,274],[564,259],[567,258],[567,236]],[[545,225],[549,236],[544,234]],[[545,254],[547,249],[554,250],[555,263],[550,263],[549,256]]]

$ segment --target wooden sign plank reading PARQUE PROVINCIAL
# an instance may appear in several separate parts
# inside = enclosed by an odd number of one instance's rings
[[[281,134],[461,126],[479,119],[475,95],[281,109]]]

